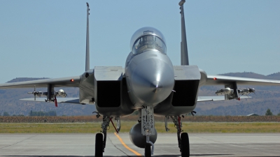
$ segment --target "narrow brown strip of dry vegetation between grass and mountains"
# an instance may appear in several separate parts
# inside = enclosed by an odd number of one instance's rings
[[[137,121],[138,116],[120,117],[122,121]],[[0,123],[82,123],[101,122],[102,117],[69,116],[69,117],[0,117]],[[165,117],[155,117],[155,121],[165,121]],[[280,122],[280,116],[186,116],[184,122]],[[172,119],[169,119],[172,122]]]

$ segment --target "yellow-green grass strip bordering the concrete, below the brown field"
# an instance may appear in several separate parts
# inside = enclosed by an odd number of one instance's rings
[[[127,133],[137,124],[135,121],[122,121],[120,132]],[[113,126],[109,133],[116,132]],[[165,133],[165,123],[156,122],[158,133]],[[169,133],[176,133],[173,123],[169,123]],[[0,123],[0,133],[99,133],[101,122],[94,123]],[[215,123],[215,122],[183,122],[183,130],[187,133],[280,133],[280,123]]]

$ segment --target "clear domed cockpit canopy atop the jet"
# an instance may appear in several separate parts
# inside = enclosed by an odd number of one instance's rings
[[[158,29],[143,27],[138,29],[130,40],[130,48],[133,54],[139,54],[148,50],[158,50],[166,54],[165,37]]]

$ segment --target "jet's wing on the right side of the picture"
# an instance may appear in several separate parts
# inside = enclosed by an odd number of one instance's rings
[[[227,85],[232,82],[237,82],[239,85],[280,86],[280,80],[265,80],[223,75],[207,75],[207,83],[205,85]]]

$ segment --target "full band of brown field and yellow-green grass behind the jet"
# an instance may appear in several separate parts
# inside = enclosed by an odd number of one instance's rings
[[[138,116],[121,117],[121,132],[137,124]],[[164,117],[155,117],[158,133],[165,133]],[[187,133],[280,133],[280,116],[196,116],[182,118]],[[262,121],[262,122],[260,122]],[[99,133],[102,117],[0,117],[0,133]],[[115,132],[110,124],[109,133]],[[169,119],[169,133],[176,133]]]

